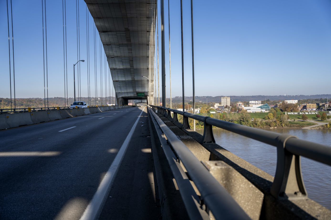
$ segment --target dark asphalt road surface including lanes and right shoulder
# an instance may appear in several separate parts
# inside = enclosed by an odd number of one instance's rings
[[[105,174],[130,133],[110,191],[92,208],[99,208],[101,219],[160,218],[148,118],[142,110],[1,130],[0,219],[80,219],[102,194]]]

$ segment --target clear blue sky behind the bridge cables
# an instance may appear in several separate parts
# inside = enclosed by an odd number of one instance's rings
[[[41,1],[12,0],[12,2],[16,97],[43,97]],[[331,2],[329,0],[221,0],[208,1],[207,4],[206,1],[194,0],[193,4],[197,96],[331,93],[329,86]],[[81,59],[86,60],[84,1],[79,0],[79,6],[80,52]],[[48,92],[49,97],[63,97],[62,1],[46,0],[46,7]],[[185,96],[191,96],[189,0],[183,0],[183,8]],[[73,97],[72,64],[77,61],[75,10],[76,1],[67,0],[69,97]],[[89,21],[92,77],[94,24],[91,17]],[[159,14],[159,27],[161,27],[161,14]],[[6,1],[0,1],[0,30],[2,30],[0,31],[0,97],[10,97],[7,28]],[[177,0],[170,0],[170,35],[172,96],[181,96],[180,1]],[[167,1],[165,1],[165,37],[166,96],[169,97]],[[159,42],[161,77],[161,28]],[[99,54],[99,38],[97,53]],[[97,63],[99,72],[99,56]],[[87,96],[86,68],[87,62],[81,63],[82,96]],[[92,79],[91,82],[93,83]],[[91,91],[94,96],[94,89],[91,88]]]

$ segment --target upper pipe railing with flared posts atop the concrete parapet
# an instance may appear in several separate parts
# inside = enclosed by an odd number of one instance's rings
[[[173,122],[178,122],[177,114],[182,115],[182,128],[190,128],[189,118],[203,122],[204,134],[201,142],[204,144],[215,143],[212,130],[212,127],[215,126],[277,147],[276,174],[270,189],[271,195],[275,198],[307,198],[307,191],[302,178],[300,156],[331,165],[331,147],[326,145],[301,140],[289,134],[279,134],[272,131],[251,128],[213,119],[208,116],[195,115],[162,106],[150,106],[166,118],[172,118],[170,112],[173,112]]]

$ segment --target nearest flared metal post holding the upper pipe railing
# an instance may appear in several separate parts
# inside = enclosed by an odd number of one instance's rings
[[[301,159],[285,148],[289,138],[296,138],[289,134],[277,137],[277,167],[270,193],[279,199],[306,199],[307,191],[302,178]]]

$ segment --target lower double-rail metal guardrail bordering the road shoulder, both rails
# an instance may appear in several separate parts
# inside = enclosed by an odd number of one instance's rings
[[[148,110],[152,115],[152,121],[159,135],[167,161],[177,182],[190,219],[210,219],[206,212],[208,210],[212,211],[215,219],[250,219],[187,146],[166,126],[151,108],[148,108]],[[164,136],[166,136],[166,139]],[[176,156],[168,143],[172,146]],[[200,198],[188,181],[188,177],[181,168],[179,161],[183,163],[190,178],[198,188],[201,194]],[[206,207],[203,208],[204,206]]]

